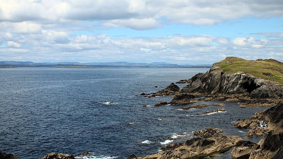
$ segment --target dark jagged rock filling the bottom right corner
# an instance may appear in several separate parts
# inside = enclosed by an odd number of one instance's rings
[[[250,153],[250,159],[277,159],[283,158],[283,133],[274,134],[269,132],[262,140],[260,140],[261,148]]]

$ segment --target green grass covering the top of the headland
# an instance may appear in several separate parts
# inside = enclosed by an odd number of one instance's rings
[[[216,66],[221,67],[224,72],[244,71],[283,84],[283,63],[273,59],[250,61],[237,57],[227,57],[217,62]],[[273,76],[269,77],[263,73],[271,73]]]

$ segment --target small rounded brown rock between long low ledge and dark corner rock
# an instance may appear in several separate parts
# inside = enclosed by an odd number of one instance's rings
[[[257,150],[260,147],[260,145],[250,142],[241,140],[239,141],[234,149],[231,152],[232,158],[239,158],[243,156],[250,155],[250,153],[254,150]]]

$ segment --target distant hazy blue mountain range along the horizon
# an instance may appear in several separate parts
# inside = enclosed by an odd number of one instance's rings
[[[166,62],[131,63],[131,62],[54,62],[35,63],[32,61],[0,61],[1,67],[56,67],[56,66],[91,66],[91,67],[211,67],[211,64],[170,64]]]

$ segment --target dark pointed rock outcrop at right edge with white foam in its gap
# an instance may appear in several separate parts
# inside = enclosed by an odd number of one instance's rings
[[[239,119],[234,126],[237,128],[249,128],[247,136],[263,135],[269,131],[275,134],[283,133],[283,103],[279,102],[276,106],[264,110],[262,113],[255,113],[250,119]],[[260,121],[265,122],[267,127],[260,127]]]

